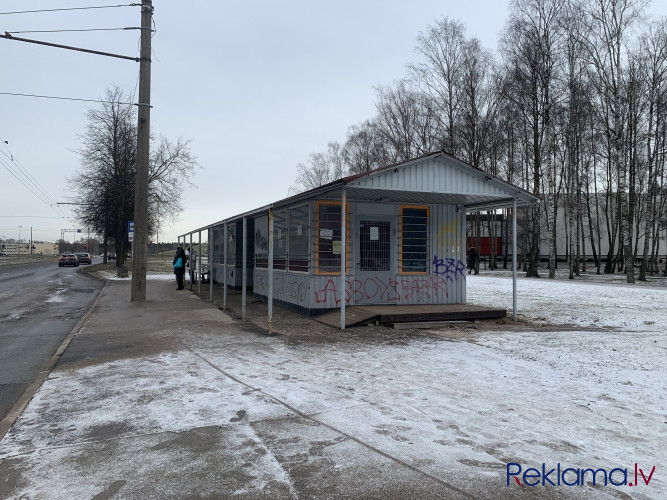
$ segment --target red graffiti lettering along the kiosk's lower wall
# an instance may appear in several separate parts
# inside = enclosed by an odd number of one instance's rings
[[[315,292],[318,304],[340,304],[342,294],[338,291],[340,280],[330,278],[321,290]],[[421,302],[439,295],[447,297],[447,279],[439,275],[394,278],[371,276],[364,280],[345,280],[345,303],[377,301],[399,303],[402,301]]]

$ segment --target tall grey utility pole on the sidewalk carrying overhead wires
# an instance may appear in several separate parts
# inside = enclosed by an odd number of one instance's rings
[[[137,172],[134,190],[134,253],[130,300],[146,300],[148,251],[148,163],[151,117],[151,24],[152,0],[141,1],[141,50],[139,60],[139,107],[137,125]]]

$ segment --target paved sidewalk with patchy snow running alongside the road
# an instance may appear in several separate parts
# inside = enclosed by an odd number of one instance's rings
[[[148,285],[103,291],[0,442],[0,498],[470,497],[228,373],[208,353],[278,340]]]

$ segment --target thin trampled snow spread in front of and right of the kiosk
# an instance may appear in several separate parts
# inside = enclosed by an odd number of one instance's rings
[[[47,380],[22,426],[38,427],[51,401],[71,401],[62,411],[69,440],[101,425],[149,434],[296,412],[463,489],[481,479],[502,491],[508,462],[620,467],[628,481],[638,463],[647,477],[656,466],[648,486],[562,493],[667,498],[667,289],[520,279],[518,299],[535,328],[292,344],[233,329],[182,331],[183,349]],[[511,279],[469,276],[468,302],[511,311]],[[81,412],[77,398],[99,404]],[[252,426],[246,432],[260,439]],[[26,451],[15,439],[3,441],[0,458]],[[63,444],[55,439],[37,431],[30,445]],[[278,474],[270,448],[256,464],[262,478]]]

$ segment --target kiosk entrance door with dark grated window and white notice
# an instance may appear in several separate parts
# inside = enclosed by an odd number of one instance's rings
[[[396,303],[393,230],[391,220],[359,220],[356,272],[351,290],[355,304]]]

